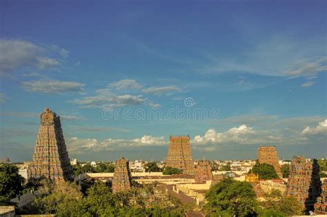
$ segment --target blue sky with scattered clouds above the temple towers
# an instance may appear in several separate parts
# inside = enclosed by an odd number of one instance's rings
[[[70,158],[327,157],[326,1],[0,0],[0,158],[45,107]]]

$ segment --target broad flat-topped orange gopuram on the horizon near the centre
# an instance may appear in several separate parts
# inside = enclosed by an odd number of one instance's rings
[[[166,167],[181,169],[184,174],[195,173],[190,136],[170,136]]]

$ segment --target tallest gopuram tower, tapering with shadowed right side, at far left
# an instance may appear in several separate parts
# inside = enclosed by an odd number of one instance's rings
[[[28,168],[28,176],[69,180],[72,166],[68,158],[60,117],[48,107],[41,114],[39,134],[34,148],[33,161]]]

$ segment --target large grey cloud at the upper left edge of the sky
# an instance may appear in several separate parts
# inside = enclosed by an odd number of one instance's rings
[[[44,70],[60,64],[57,59],[48,55],[48,46],[36,45],[29,41],[0,39],[0,50],[1,76],[9,76],[25,67]],[[68,56],[68,51],[58,47],[52,56]]]

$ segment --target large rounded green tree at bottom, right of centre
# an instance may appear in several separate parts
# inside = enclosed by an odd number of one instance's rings
[[[206,193],[208,216],[255,216],[257,202],[252,185],[226,178]]]

